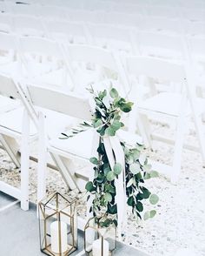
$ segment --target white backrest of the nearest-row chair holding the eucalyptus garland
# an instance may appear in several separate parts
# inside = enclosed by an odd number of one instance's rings
[[[92,118],[89,98],[74,93],[51,91],[42,87],[28,87],[32,104],[51,111],[57,111],[73,118],[90,120]],[[41,97],[39,97],[39,95]]]

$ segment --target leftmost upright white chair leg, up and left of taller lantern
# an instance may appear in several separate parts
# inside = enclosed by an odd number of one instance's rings
[[[21,145],[21,208],[29,210],[29,136],[30,119],[27,111],[23,113],[23,136]]]

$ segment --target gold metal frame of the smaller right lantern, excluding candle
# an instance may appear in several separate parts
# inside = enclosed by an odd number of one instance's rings
[[[115,251],[116,251],[116,225],[114,223],[112,223],[111,225],[109,225],[108,227],[101,227],[99,225],[100,220],[102,219],[107,219],[107,215],[102,216],[101,218],[97,218],[97,217],[92,217],[88,220],[88,222],[86,223],[86,225],[84,226],[84,251],[86,253],[86,255],[93,255],[92,254],[92,247],[91,246],[87,246],[88,243],[88,229],[93,230],[94,235],[93,235],[93,242],[95,239],[101,239],[102,243],[101,243],[101,255],[99,256],[103,256],[103,243],[104,240],[107,240],[106,235],[109,234],[110,231],[114,231],[113,237],[111,238],[108,235],[109,239],[113,240],[113,248],[109,248],[109,256],[114,255]],[[103,229],[103,232],[101,231]],[[95,237],[95,238],[94,238]],[[110,246],[110,243],[109,243]]]

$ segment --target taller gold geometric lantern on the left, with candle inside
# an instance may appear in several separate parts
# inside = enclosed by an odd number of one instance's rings
[[[77,249],[76,199],[56,192],[38,203],[41,251],[67,256]]]

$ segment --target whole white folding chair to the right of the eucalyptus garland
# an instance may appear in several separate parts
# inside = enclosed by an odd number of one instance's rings
[[[169,142],[167,138],[162,138],[161,135],[152,135],[149,128],[149,118],[155,118],[156,120],[162,120],[165,122],[167,118],[175,118],[176,120],[176,134],[175,134],[175,148],[172,166],[159,165],[158,171],[164,172],[169,175],[173,182],[176,182],[179,178],[181,170],[181,157],[183,147],[183,137],[186,129],[188,129],[187,118],[192,114],[195,118],[195,128],[197,136],[202,150],[202,157],[204,158],[204,147],[203,147],[203,135],[202,127],[199,122],[196,122],[199,112],[196,112],[194,108],[190,110],[188,105],[192,102],[192,94],[189,88],[192,84],[188,84],[187,74],[182,64],[174,64],[164,61],[162,59],[151,58],[151,57],[127,57],[126,58],[127,71],[131,75],[136,77],[147,77],[149,79],[149,85],[155,87],[156,80],[168,84],[172,87],[174,84],[177,85],[181,91],[161,92],[155,95],[144,98],[141,102],[138,101],[136,117],[138,117],[139,130],[142,133],[144,141],[147,145],[151,146],[153,138],[161,139],[164,142]],[[154,80],[153,80],[154,79]],[[190,80],[190,79],[189,79]],[[146,81],[141,79],[141,83]],[[144,84],[142,84],[144,86]],[[133,84],[132,94],[139,91],[139,84]],[[181,92],[181,93],[180,93]],[[199,108],[202,111],[202,108]],[[163,119],[161,119],[163,117]],[[164,118],[165,117],[165,118]],[[132,117],[133,118],[133,117]],[[137,119],[136,119],[137,122]],[[154,165],[157,169],[157,165]]]

